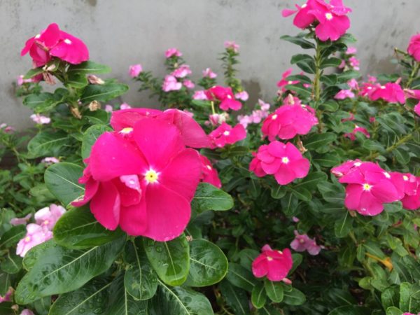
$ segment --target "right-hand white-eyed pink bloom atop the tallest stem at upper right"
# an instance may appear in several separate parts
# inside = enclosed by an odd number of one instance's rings
[[[337,41],[349,29],[350,20],[346,14],[351,12],[351,9],[346,8],[342,0],[331,0],[330,3],[316,0],[313,1],[312,6],[309,13],[313,14],[319,22],[315,28],[315,34],[321,41],[328,39]]]

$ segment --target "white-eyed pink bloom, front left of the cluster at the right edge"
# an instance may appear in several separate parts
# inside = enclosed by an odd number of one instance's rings
[[[363,216],[376,216],[384,210],[384,203],[400,200],[398,188],[391,174],[372,162],[362,162],[339,178],[347,183],[344,204]]]

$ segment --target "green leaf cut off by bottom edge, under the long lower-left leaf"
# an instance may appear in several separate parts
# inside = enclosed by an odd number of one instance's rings
[[[105,314],[111,282],[93,279],[73,292],[59,295],[48,315]]]

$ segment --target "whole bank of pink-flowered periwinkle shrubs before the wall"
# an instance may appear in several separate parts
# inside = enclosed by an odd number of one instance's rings
[[[0,311],[420,311],[418,35],[395,49],[401,73],[363,80],[351,9],[296,8],[283,16],[303,31],[282,38],[309,51],[291,59],[302,72],[258,104],[233,41],[224,80],[193,81],[176,48],[164,78],[130,66],[161,109],[118,104],[127,86],[57,25],[27,41],[17,94],[36,133],[0,125],[15,162],[0,171]]]

